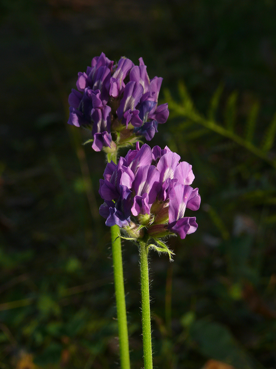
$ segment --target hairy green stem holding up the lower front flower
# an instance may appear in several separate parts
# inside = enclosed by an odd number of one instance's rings
[[[151,310],[149,307],[149,269],[146,242],[140,241],[142,331],[144,347],[144,368],[152,369]]]

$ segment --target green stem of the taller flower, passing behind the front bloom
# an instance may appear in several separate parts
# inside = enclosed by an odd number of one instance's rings
[[[114,163],[117,163],[117,152],[107,155],[107,159],[109,162],[113,160]],[[127,311],[125,308],[125,289],[120,228],[118,225],[113,225],[110,227],[110,232],[112,241],[114,287],[117,306],[121,369],[130,369],[130,351],[128,345]]]

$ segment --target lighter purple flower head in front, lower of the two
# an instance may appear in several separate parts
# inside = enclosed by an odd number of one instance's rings
[[[108,163],[100,179],[100,196],[105,202],[100,214],[106,225],[124,228],[132,237],[164,237],[177,233],[181,238],[195,232],[195,217],[184,217],[186,207],[198,210],[198,189],[192,166],[179,162],[180,156],[166,146],[151,149],[136,144],[118,164]],[[142,228],[141,225],[144,225]],[[135,233],[136,232],[136,233]]]

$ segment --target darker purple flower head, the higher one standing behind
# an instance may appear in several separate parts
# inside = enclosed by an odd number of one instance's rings
[[[149,79],[142,58],[139,66],[124,57],[114,65],[102,53],[86,73],[78,73],[78,91],[72,89],[69,95],[68,123],[92,128],[95,151],[116,149],[112,132],[117,132],[117,144],[141,135],[149,141],[169,116],[168,104],[158,106],[162,80]]]

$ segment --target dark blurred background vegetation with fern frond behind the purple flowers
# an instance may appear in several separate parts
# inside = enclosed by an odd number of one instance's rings
[[[276,368],[275,1],[1,0],[0,21],[0,368],[119,368],[105,157],[66,123],[101,52],[164,78],[150,145],[190,162],[202,196],[174,262],[152,252],[154,366]],[[136,246],[123,258],[139,369]]]

